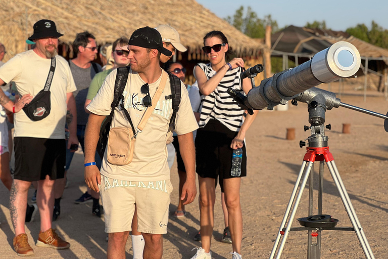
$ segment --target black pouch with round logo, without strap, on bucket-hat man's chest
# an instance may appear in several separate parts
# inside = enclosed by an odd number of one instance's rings
[[[23,111],[31,120],[38,121],[49,116],[51,110],[51,92],[41,90]]]

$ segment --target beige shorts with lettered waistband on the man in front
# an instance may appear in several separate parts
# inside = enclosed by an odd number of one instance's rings
[[[132,230],[137,209],[137,231],[166,234],[172,185],[170,180],[130,182],[101,176],[99,185],[104,206],[105,232]]]

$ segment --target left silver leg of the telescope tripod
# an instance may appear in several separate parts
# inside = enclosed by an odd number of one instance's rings
[[[269,259],[273,259],[274,255],[276,253],[276,250],[277,250],[277,247],[279,245],[280,238],[281,238],[281,233],[280,232],[282,232],[283,228],[285,227],[285,224],[286,224],[286,221],[287,221],[287,218],[288,218],[288,215],[289,215],[289,211],[290,211],[290,209],[291,209],[291,207],[292,207],[292,205],[294,203],[294,199],[295,199],[295,195],[296,195],[297,190],[298,190],[299,183],[301,182],[301,178],[304,175],[303,181],[302,181],[302,185],[301,185],[301,188],[299,189],[299,193],[298,193],[297,199],[295,201],[293,211],[291,212],[291,215],[290,215],[289,220],[288,220],[287,227],[286,227],[286,229],[284,231],[283,239],[281,240],[280,247],[279,247],[279,250],[278,250],[277,255],[276,255],[276,259],[280,258],[280,255],[281,255],[281,253],[283,251],[283,248],[284,248],[284,245],[285,245],[285,241],[287,239],[289,230],[291,229],[292,222],[294,221],[295,214],[297,212],[299,202],[300,202],[300,200],[302,198],[303,190],[306,187],[306,183],[307,183],[307,180],[309,178],[310,171],[311,171],[311,168],[313,167],[313,163],[314,162],[309,162],[309,164],[307,166],[306,166],[306,163],[307,163],[306,161],[303,161],[303,163],[302,163],[302,167],[301,167],[301,170],[299,171],[297,182],[295,183],[293,192],[291,194],[291,197],[289,198],[289,202],[288,202],[287,208],[285,210],[284,217],[283,217],[283,220],[281,222],[279,232],[277,233],[276,240],[275,240],[275,243],[273,245],[273,248],[272,248],[272,251],[271,251],[271,255],[269,256]],[[303,172],[304,169],[305,169],[305,171]]]

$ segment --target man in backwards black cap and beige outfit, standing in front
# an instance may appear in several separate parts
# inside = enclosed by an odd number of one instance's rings
[[[108,258],[125,258],[125,243],[136,204],[137,231],[142,233],[145,241],[143,258],[160,259],[172,191],[166,137],[173,112],[172,100],[168,98],[171,95],[169,76],[160,68],[159,59],[161,54],[171,56],[171,51],[163,47],[160,33],[150,27],[133,32],[128,51],[130,70],[123,92],[124,100],[120,108],[115,109],[112,126],[132,130],[123,109],[128,111],[134,127],[148,109],[155,109],[142,131],[137,133],[132,161],[126,165],[112,164],[108,162],[106,152],[100,173],[94,162],[94,153],[101,123],[111,113],[117,70],[106,77],[98,94],[86,107],[91,114],[85,133],[85,181],[92,190],[100,191],[104,204],[105,232],[109,233]],[[158,88],[164,89],[160,97],[155,98]],[[181,197],[184,204],[191,203],[197,193],[192,138],[192,131],[197,128],[187,90],[181,82],[181,101],[174,131],[182,146],[181,154],[187,172]]]

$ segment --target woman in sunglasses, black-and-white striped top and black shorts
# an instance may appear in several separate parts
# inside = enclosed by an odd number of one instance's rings
[[[232,259],[241,259],[243,216],[240,205],[241,177],[247,175],[246,132],[257,115],[248,115],[243,122],[244,110],[226,93],[228,88],[248,91],[252,88],[249,78],[241,80],[244,60],[233,58],[227,62],[231,50],[228,40],[220,31],[211,31],[204,37],[205,54],[209,64],[200,63],[194,76],[203,99],[200,107],[200,128],[196,138],[197,174],[200,186],[201,241],[196,255],[191,259],[211,259],[210,243],[214,227],[215,186],[219,179],[225,194],[228,223],[232,239]],[[233,149],[243,149],[241,175],[230,174]]]

